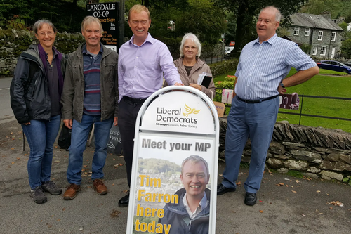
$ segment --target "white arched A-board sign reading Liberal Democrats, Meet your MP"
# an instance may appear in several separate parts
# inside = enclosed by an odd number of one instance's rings
[[[137,123],[126,233],[215,233],[219,123],[211,99],[168,86],[147,98]]]

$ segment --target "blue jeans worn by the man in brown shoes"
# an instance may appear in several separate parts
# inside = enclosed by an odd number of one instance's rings
[[[69,162],[67,169],[68,183],[81,184],[81,168],[83,167],[83,152],[86,148],[91,126],[95,124],[95,152],[93,157],[91,179],[102,178],[102,169],[105,166],[107,156],[107,141],[110,136],[110,129],[113,117],[101,121],[101,115],[85,115],[81,118],[81,123],[73,119],[71,146],[69,146]]]

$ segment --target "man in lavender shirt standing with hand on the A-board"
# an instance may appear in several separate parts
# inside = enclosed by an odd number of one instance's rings
[[[128,24],[133,37],[119,48],[118,84],[119,116],[128,186],[131,186],[135,122],[146,98],[161,89],[163,78],[168,84],[183,85],[167,46],[147,32],[151,19],[149,10],[135,5],[129,10]],[[129,194],[119,200],[127,207]]]

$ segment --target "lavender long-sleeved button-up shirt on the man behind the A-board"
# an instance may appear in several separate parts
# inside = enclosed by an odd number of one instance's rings
[[[166,44],[150,33],[141,46],[133,44],[133,39],[134,36],[119,48],[119,101],[123,96],[148,98],[161,89],[163,77],[171,85],[182,83]]]

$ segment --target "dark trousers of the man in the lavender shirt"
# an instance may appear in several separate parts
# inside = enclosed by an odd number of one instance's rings
[[[134,103],[122,98],[119,102],[118,126],[121,132],[124,161],[126,162],[128,186],[131,187],[131,169],[133,163],[133,147],[135,122],[143,103]]]

